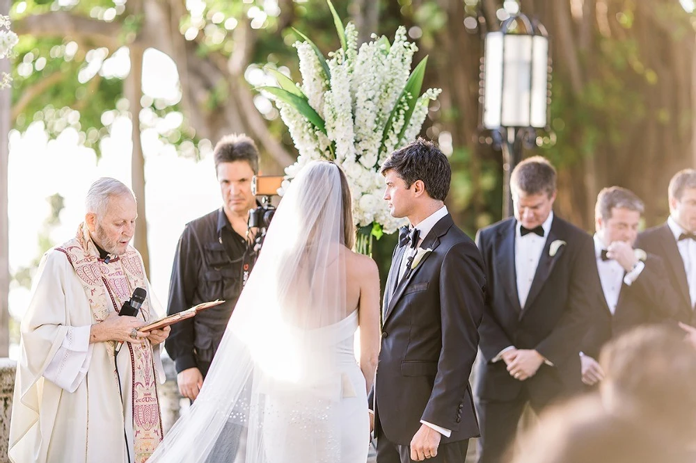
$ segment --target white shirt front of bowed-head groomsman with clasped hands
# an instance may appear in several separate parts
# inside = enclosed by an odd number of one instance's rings
[[[535,233],[528,233],[525,236],[521,234],[522,224],[517,222],[515,226],[515,273],[517,275],[517,297],[520,300],[520,307],[524,309],[524,304],[527,302],[530,289],[532,289],[532,281],[537,273],[541,253],[544,252],[544,245],[548,232],[551,232],[551,223],[553,222],[553,211],[548,214],[541,228],[544,229],[544,236],[539,236]]]

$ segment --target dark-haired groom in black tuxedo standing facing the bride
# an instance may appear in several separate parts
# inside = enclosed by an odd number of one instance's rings
[[[381,170],[390,213],[406,217],[384,291],[370,403],[378,463],[460,463],[479,434],[469,387],[484,307],[483,261],[444,200],[450,164],[419,138]],[[409,460],[410,458],[410,460]]]

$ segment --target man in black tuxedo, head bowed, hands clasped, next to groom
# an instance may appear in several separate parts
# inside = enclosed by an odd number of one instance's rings
[[[592,238],[554,215],[556,172],[541,156],[512,172],[514,218],[480,230],[488,300],[475,396],[480,463],[497,463],[525,405],[582,389],[580,342],[596,288]]]

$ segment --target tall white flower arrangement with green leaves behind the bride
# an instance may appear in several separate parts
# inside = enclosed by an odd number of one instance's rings
[[[372,42],[358,49],[354,24],[344,29],[331,0],[327,3],[341,48],[327,60],[306,35],[296,31],[303,39],[294,44],[302,83],[267,67],[278,87],[260,90],[276,102],[299,152],[296,163],[285,169],[283,188],[309,161],[325,159],[340,165],[353,195],[355,225],[370,230],[363,234],[362,244],[358,240],[358,251],[369,254],[372,236],[379,239],[404,225],[402,219],[390,216],[382,200],[384,179],[379,169],[395,149],[418,136],[429,101],[441,90],[431,88],[420,95],[427,56],[411,72],[418,47],[406,40],[404,26],[397,29],[393,43],[373,34]]]

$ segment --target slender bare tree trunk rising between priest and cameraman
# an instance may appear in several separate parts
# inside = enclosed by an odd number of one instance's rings
[[[145,216],[145,158],[140,133],[140,100],[143,96],[143,49],[138,44],[130,47],[131,70],[125,81],[125,95],[133,123],[133,153],[131,178],[133,192],[138,198],[138,226],[135,229],[134,247],[139,250],[145,263],[145,273],[150,274],[150,251],[148,250],[148,220]]]

